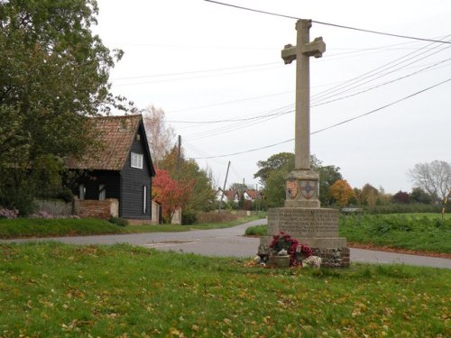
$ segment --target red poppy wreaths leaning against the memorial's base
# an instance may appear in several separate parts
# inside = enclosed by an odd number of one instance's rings
[[[290,266],[302,266],[302,260],[312,255],[312,251],[307,244],[299,243],[296,238],[285,232],[272,236],[270,248],[274,255],[286,251],[285,254],[290,256]]]

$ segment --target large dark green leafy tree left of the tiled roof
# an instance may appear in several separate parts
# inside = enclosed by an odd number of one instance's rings
[[[122,52],[112,55],[90,31],[97,11],[95,0],[0,1],[4,206],[21,201],[19,192],[39,195],[45,182],[32,181],[32,171],[43,159],[56,163],[85,151],[93,140],[86,116],[125,109],[108,83]]]

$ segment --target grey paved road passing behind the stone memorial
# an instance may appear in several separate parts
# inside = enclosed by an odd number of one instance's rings
[[[98,235],[83,237],[57,237],[47,239],[0,240],[5,242],[58,241],[70,244],[130,243],[162,251],[192,252],[207,256],[253,257],[259,245],[258,238],[244,237],[247,227],[262,224],[257,220],[233,228],[217,230],[194,230],[185,233],[133,233],[121,235]],[[164,226],[164,225],[162,225]],[[402,263],[451,269],[451,260],[415,256],[393,252],[351,249],[352,262]]]

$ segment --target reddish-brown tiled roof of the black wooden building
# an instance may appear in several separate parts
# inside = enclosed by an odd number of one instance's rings
[[[69,169],[121,170],[127,160],[141,114],[103,116],[90,119],[98,133],[100,148],[87,150],[79,160],[69,160]]]

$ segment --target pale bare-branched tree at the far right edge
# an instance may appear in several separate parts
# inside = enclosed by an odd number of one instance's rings
[[[451,163],[443,160],[417,163],[409,170],[408,175],[416,187],[444,203],[451,189]]]

